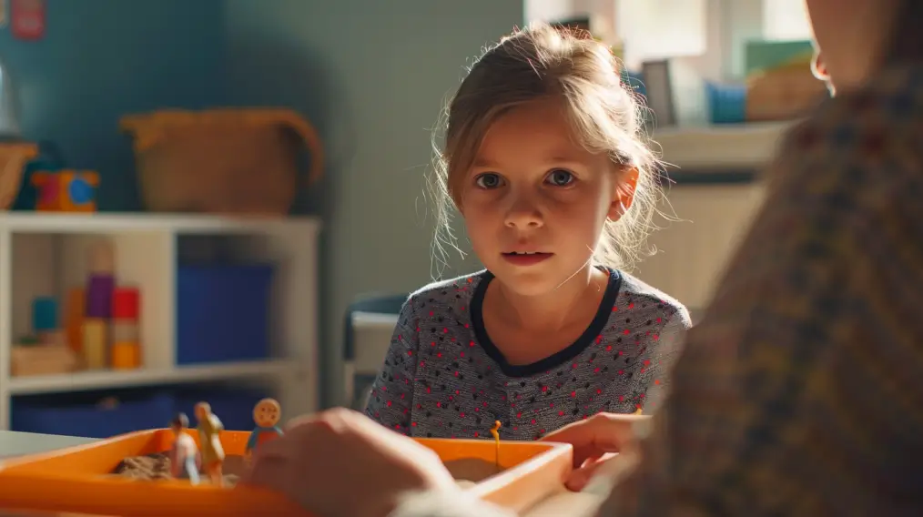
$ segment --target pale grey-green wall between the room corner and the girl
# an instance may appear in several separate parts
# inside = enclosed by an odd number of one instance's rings
[[[237,103],[296,107],[318,126],[327,180],[305,202],[325,216],[322,353],[341,403],[342,318],[356,295],[430,279],[423,174],[430,129],[482,47],[522,23],[521,0],[227,0]],[[457,256],[456,256],[457,257]],[[455,264],[471,270],[473,261]]]

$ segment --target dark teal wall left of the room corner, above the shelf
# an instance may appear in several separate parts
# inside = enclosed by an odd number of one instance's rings
[[[9,2],[5,2],[7,9]],[[100,171],[101,210],[138,208],[121,114],[223,102],[222,0],[46,0],[42,40],[0,30],[25,138]]]

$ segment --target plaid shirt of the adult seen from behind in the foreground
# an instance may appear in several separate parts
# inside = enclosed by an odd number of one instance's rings
[[[826,102],[769,173],[601,517],[923,515],[923,69]],[[437,496],[395,515],[501,514]]]

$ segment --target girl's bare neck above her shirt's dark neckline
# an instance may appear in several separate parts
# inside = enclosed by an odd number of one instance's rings
[[[587,265],[554,291],[521,295],[497,282],[494,310],[509,324],[529,331],[558,331],[586,310],[595,312],[605,294],[608,274]]]

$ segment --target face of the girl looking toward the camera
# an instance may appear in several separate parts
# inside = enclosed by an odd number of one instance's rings
[[[588,265],[606,218],[617,219],[617,171],[570,134],[564,108],[534,102],[487,131],[462,189],[474,253],[521,295],[553,291]]]

